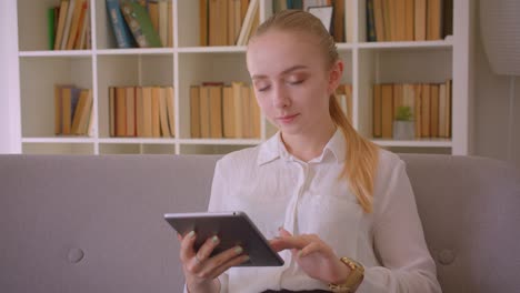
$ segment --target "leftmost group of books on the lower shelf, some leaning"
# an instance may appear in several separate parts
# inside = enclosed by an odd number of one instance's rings
[[[92,123],[92,90],[54,85],[54,133],[88,135]]]

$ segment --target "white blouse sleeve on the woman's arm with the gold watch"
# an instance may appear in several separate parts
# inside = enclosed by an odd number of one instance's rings
[[[382,266],[366,267],[358,293],[441,292],[404,162],[399,160],[374,204],[374,250]]]

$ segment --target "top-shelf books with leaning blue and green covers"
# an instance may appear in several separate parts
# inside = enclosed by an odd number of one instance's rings
[[[173,47],[171,1],[106,1],[118,48]]]

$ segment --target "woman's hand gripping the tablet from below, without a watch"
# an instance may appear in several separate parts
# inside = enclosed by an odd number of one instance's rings
[[[206,240],[199,251],[194,251],[197,234],[192,231],[184,235],[177,235],[181,242],[180,260],[184,271],[186,285],[190,293],[219,292],[220,283],[218,276],[233,265],[249,260],[242,254],[243,250],[236,246],[210,257],[213,249],[220,243],[218,236]]]

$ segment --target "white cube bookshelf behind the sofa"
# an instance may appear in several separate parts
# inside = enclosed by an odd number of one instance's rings
[[[199,1],[172,0],[173,48],[117,49],[104,0],[90,0],[92,50],[47,50],[46,11],[58,0],[8,0],[18,2],[19,102],[23,153],[227,153],[256,145],[276,130],[262,118],[260,139],[191,139],[189,87],[202,81],[250,83],[246,47],[198,47]],[[260,19],[272,12],[272,0],[260,0]],[[471,22],[474,3],[456,0],[453,36],[423,42],[366,42],[366,1],[353,1],[359,12],[354,41],[339,43],[346,62],[342,82],[352,83],[353,125],[372,135],[372,84],[374,82],[443,82],[453,79],[452,139],[413,141],[380,140],[378,144],[407,152],[471,153]],[[348,6],[347,6],[348,7]],[[16,26],[13,26],[16,27]],[[53,133],[53,85],[74,83],[92,89],[92,137],[56,137]],[[109,85],[174,87],[176,138],[110,138]],[[0,102],[1,103],[1,102]],[[17,104],[11,103],[10,104]],[[0,104],[1,105],[1,104]]]

